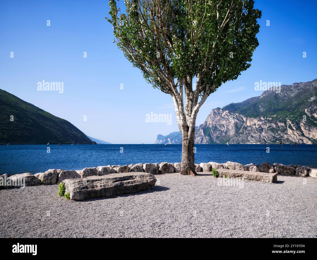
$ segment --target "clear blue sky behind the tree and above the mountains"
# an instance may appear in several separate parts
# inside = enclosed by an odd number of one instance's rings
[[[254,90],[260,80],[292,84],[317,78],[316,1],[256,0],[255,7],[262,18],[251,67],[210,95],[197,125],[213,108],[261,95]],[[108,12],[108,1],[1,1],[0,88],[88,136],[154,143],[158,134],[178,131],[171,97],[148,85],[113,43]],[[64,93],[37,91],[42,80],[64,82]],[[146,123],[151,112],[172,114],[171,125]]]

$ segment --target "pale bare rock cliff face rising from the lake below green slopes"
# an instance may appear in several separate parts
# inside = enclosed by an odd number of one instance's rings
[[[196,130],[195,143],[316,143],[317,128],[298,121],[244,117],[217,108]]]

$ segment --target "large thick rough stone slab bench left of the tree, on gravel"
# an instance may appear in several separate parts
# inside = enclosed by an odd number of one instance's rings
[[[66,192],[72,200],[113,197],[152,189],[156,178],[145,172],[113,173],[103,176],[66,179]]]

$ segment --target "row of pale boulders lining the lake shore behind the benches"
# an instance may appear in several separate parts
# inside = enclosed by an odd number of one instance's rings
[[[250,163],[243,165],[241,163],[235,162],[226,162],[226,163],[200,163],[195,164],[196,172],[208,172],[212,169],[229,169],[229,170],[244,170],[244,171],[253,171],[253,172],[267,172],[267,173],[279,173],[286,175],[297,175],[297,176],[311,176],[313,178],[317,177],[317,169],[313,166],[305,165],[283,165],[281,163],[262,163],[255,164]],[[19,179],[24,178],[25,186],[36,186],[41,184],[55,184],[60,183],[66,179],[74,178],[85,178],[89,176],[103,176],[113,173],[127,173],[127,172],[147,172],[150,174],[166,174],[173,172],[180,172],[181,163],[137,163],[130,165],[107,165],[107,166],[98,166],[85,168],[83,170],[61,170],[61,169],[50,169],[43,173],[36,173],[32,175],[31,173],[15,174],[8,177],[7,174],[3,174],[0,177],[11,180],[13,183],[17,182]]]

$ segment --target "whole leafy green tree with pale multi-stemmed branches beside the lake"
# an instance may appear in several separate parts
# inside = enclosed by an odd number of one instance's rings
[[[251,0],[110,0],[113,42],[154,88],[170,94],[183,137],[180,174],[196,175],[199,108],[250,67],[261,11]],[[193,85],[193,80],[196,84]]]

